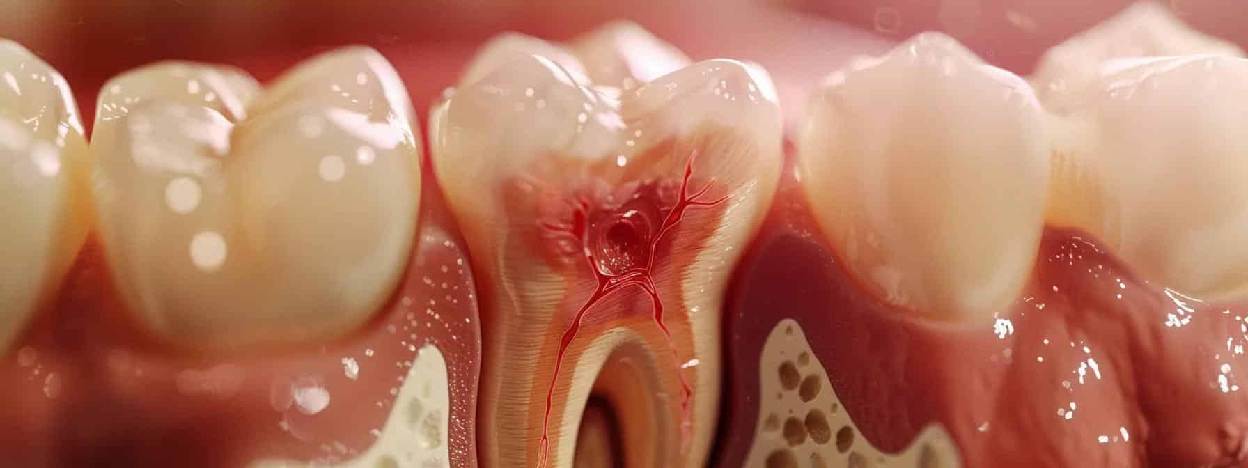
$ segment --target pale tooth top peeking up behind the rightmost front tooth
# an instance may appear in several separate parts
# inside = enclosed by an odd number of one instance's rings
[[[1243,50],[1189,27],[1159,4],[1141,1],[1046,51],[1032,84],[1046,109],[1062,112],[1081,105],[1088,86],[1112,74],[1106,61],[1194,54],[1242,56]]]

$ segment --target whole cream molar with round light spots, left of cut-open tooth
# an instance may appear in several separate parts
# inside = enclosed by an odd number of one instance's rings
[[[157,336],[202,351],[329,339],[388,298],[421,175],[411,105],[379,54],[326,54],[263,95],[242,72],[195,64],[104,90],[91,146],[101,240]]]

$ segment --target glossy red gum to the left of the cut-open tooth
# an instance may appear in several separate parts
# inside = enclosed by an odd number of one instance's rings
[[[422,347],[441,351],[451,466],[475,466],[477,298],[457,230],[428,197],[412,261],[378,316],[344,339],[265,356],[187,356],[140,329],[89,241],[60,298],[0,359],[0,452],[15,467],[337,463],[403,417]],[[426,352],[427,354],[428,352]],[[424,408],[432,412],[436,408]],[[392,416],[394,414],[394,416]],[[441,443],[441,442],[439,442]],[[443,461],[444,463],[444,461]]]

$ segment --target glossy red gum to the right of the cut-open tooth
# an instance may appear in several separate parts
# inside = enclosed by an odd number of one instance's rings
[[[791,171],[728,298],[719,466],[759,423],[760,349],[792,318],[872,446],[931,423],[966,466],[1248,466],[1238,372],[1248,323],[1132,276],[1096,240],[1048,228],[1023,295],[993,321],[919,322],[865,296],[821,240]]]

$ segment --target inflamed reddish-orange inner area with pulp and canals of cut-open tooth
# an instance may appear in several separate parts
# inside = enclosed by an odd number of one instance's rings
[[[729,200],[723,181],[695,175],[715,160],[700,151],[666,140],[625,167],[614,157],[588,167],[562,161],[552,168],[539,165],[522,182],[503,185],[509,225],[519,231],[509,238],[522,240],[534,261],[565,278],[568,291],[545,326],[545,336],[559,337],[543,339],[540,353],[552,358],[553,367],[539,368],[533,382],[534,397],[543,401],[543,411],[530,416],[542,428],[538,466],[548,463],[549,428],[564,418],[554,408],[560,407],[557,389],[572,372],[564,368],[565,357],[579,352],[578,338],[617,327],[638,329],[648,346],[670,351],[670,361],[660,364],[670,362],[671,383],[679,387],[673,388],[680,394],[674,408],[679,423],[673,426],[680,428],[681,453],[688,449],[698,383],[681,368],[696,357],[689,356],[693,326],[681,297],[684,271],[709,241]],[[673,175],[676,167],[680,172]]]

